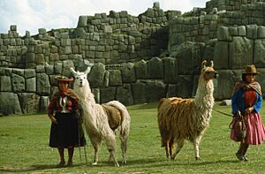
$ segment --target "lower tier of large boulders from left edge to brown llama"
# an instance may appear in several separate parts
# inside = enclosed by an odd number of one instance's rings
[[[47,110],[50,96],[57,91],[56,74],[72,76],[70,67],[84,71],[87,62],[77,64],[76,61],[65,60],[57,65],[37,65],[35,69],[1,68],[2,114]],[[194,94],[196,88],[193,87],[192,76],[178,76],[178,64],[173,57],[153,57],[148,61],[142,59],[111,65],[96,63],[87,79],[96,102],[118,100],[125,105],[157,102],[164,96],[176,94],[188,97]]]

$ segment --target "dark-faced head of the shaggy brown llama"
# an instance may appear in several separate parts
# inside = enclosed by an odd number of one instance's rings
[[[205,80],[209,79],[216,79],[217,78],[217,72],[214,69],[214,62],[210,61],[210,65],[206,66],[207,61],[204,60],[201,63],[201,75]]]

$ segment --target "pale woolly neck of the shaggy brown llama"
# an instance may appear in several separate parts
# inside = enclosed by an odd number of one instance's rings
[[[205,80],[201,76],[195,95],[195,105],[199,108],[212,109],[215,103],[214,83],[212,79]]]

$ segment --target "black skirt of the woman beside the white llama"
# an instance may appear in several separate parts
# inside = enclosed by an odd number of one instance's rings
[[[57,113],[57,124],[51,124],[49,147],[73,148],[86,144],[84,132],[79,125],[77,113]]]

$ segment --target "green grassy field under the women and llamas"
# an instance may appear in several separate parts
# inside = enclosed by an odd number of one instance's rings
[[[156,104],[128,107],[132,117],[128,140],[128,162],[115,168],[108,162],[102,144],[97,166],[92,166],[94,150],[87,139],[87,163],[84,148],[75,148],[72,167],[56,168],[57,149],[49,148],[50,122],[46,114],[0,117],[0,173],[265,173],[265,147],[250,146],[248,162],[239,162],[235,152],[239,143],[230,140],[231,117],[213,111],[200,147],[201,161],[193,155],[193,145],[186,141],[175,161],[165,157],[160,147],[156,123]],[[215,105],[216,110],[231,112],[230,106]],[[265,110],[261,110],[265,120]],[[66,151],[65,151],[66,153]],[[81,160],[80,160],[81,155]],[[67,154],[65,154],[67,159]],[[117,158],[121,162],[117,139]],[[120,163],[121,164],[121,163]]]

